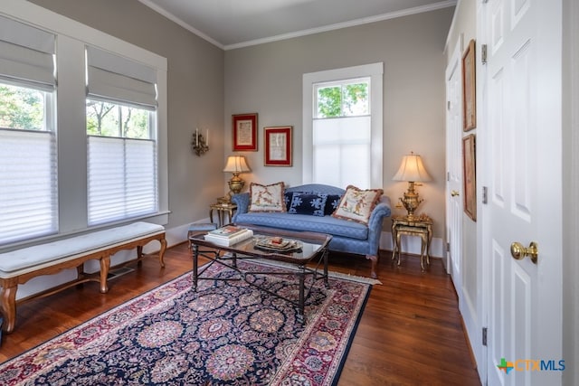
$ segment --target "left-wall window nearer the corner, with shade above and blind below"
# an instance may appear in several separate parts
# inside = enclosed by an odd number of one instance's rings
[[[157,212],[157,93],[147,67],[87,49],[89,224]]]

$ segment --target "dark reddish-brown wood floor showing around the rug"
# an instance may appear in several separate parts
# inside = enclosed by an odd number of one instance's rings
[[[70,288],[19,305],[13,334],[3,335],[0,362],[118,306],[191,269],[187,245],[166,251],[166,268],[146,259],[134,272],[109,281]],[[347,255],[330,256],[330,269],[367,276],[370,264]],[[440,259],[421,272],[417,257],[396,267],[383,252],[376,285],[348,353],[339,385],[480,385],[463,334],[451,278]]]

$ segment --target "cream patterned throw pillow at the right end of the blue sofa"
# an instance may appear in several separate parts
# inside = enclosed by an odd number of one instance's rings
[[[370,220],[370,214],[383,193],[382,189],[362,190],[354,185],[348,185],[346,193],[344,193],[337,210],[332,213],[332,216],[338,219],[367,224]]]

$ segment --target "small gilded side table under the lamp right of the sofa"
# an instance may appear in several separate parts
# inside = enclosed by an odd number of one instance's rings
[[[408,216],[392,217],[392,241],[394,245],[392,259],[396,259],[396,252],[398,252],[398,265],[400,265],[400,238],[402,235],[421,238],[420,267],[424,270],[424,257],[426,264],[431,264],[432,219],[423,214],[413,218],[408,218]]]

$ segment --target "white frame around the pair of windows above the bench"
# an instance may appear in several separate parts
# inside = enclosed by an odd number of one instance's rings
[[[45,237],[14,242],[3,248],[14,248],[30,242],[57,240],[79,232],[146,220],[165,225],[168,222],[168,152],[167,152],[167,61],[132,43],[102,33],[87,25],[39,5],[28,2],[0,3],[0,14],[22,21],[56,35],[56,68],[58,85],[55,112],[58,148],[59,231]],[[87,214],[87,133],[85,47],[89,44],[154,70],[157,84],[157,176],[158,211],[138,218],[89,226]],[[79,129],[79,128],[82,129]]]

